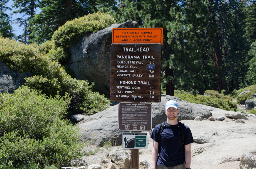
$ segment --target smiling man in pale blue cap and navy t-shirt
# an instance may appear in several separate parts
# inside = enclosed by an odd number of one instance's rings
[[[170,125],[170,127],[164,127],[161,133],[160,142],[158,138],[160,124],[154,128],[151,134],[151,138],[153,139],[152,169],[190,169],[190,148],[191,143],[194,142],[190,128],[184,125],[185,166],[184,155],[182,152],[183,146],[178,128],[180,122],[177,120],[177,115],[179,113],[177,102],[173,100],[166,102],[164,111],[167,116],[165,125]],[[158,150],[159,144],[160,147]]]

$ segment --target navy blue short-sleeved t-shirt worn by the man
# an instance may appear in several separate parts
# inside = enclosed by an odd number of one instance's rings
[[[166,167],[174,167],[176,165],[180,165],[184,163],[184,157],[182,153],[182,141],[179,133],[178,125],[170,125],[171,127],[164,127],[163,132],[161,133],[161,144],[159,148],[159,156],[157,160],[157,165],[166,166]],[[165,125],[168,125],[165,121]],[[176,127],[172,127],[176,126]],[[151,138],[159,143],[158,139],[158,130],[160,124],[156,125],[154,128]],[[184,133],[185,139],[184,144],[190,144],[194,142],[191,130],[189,127],[184,125]]]

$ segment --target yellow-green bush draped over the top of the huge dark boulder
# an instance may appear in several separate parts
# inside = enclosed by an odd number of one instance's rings
[[[69,46],[77,42],[80,36],[102,30],[114,23],[111,15],[96,12],[66,22],[54,32],[52,40],[57,47]]]

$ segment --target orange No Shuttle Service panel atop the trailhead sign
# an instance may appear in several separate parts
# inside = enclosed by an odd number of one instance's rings
[[[163,44],[163,28],[113,28],[112,43]]]

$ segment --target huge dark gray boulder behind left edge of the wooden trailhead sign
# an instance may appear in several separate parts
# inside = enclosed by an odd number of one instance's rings
[[[100,94],[109,98],[110,93],[110,45],[112,28],[138,28],[135,21],[120,24],[80,37],[76,45],[70,46],[68,68],[79,80],[95,82]]]

